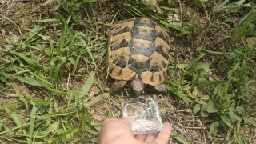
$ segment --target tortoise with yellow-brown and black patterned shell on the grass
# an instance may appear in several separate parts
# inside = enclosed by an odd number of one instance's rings
[[[112,92],[122,90],[127,82],[134,94],[144,93],[149,85],[166,94],[166,70],[170,58],[170,37],[148,18],[130,18],[117,22],[108,33],[106,71],[117,80]]]

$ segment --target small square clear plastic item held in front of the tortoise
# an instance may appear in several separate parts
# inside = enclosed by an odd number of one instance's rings
[[[162,118],[155,94],[124,99],[122,114],[130,119],[133,134],[150,134],[162,130]]]

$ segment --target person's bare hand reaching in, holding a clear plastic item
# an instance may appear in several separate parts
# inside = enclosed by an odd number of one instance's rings
[[[170,138],[170,132],[170,123],[164,123],[162,130],[158,133],[133,135],[128,118],[108,118],[102,123],[98,144],[166,144]]]

